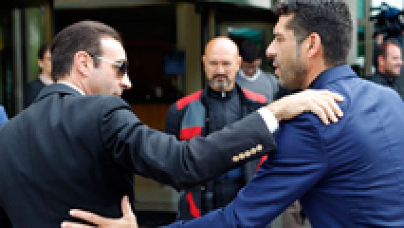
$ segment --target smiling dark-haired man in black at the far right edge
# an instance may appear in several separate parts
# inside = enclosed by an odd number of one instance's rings
[[[376,73],[368,79],[394,89],[404,99],[404,84],[400,83],[402,57],[400,44],[395,39],[387,39],[377,48]]]

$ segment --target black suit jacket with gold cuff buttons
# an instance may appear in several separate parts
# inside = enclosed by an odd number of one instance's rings
[[[49,85],[0,128],[0,226],[58,227],[70,208],[120,217],[123,195],[133,205],[133,173],[191,187],[274,149],[258,113],[183,142],[142,124],[118,97]]]

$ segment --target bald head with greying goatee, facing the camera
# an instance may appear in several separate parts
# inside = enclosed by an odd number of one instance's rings
[[[241,58],[236,43],[227,37],[216,37],[208,42],[203,57],[209,86],[217,91],[229,91],[234,87]]]

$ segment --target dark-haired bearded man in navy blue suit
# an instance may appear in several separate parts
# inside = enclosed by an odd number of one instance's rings
[[[274,9],[279,19],[267,55],[280,85],[342,94],[344,118],[327,127],[311,113],[281,121],[276,153],[233,202],[168,227],[264,227],[296,199],[313,227],[404,227],[404,103],[346,64],[348,6],[293,0]],[[75,210],[85,220],[99,218],[86,213]]]

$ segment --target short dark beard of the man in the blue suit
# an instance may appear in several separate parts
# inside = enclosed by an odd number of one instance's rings
[[[286,89],[303,89],[305,78],[309,72],[308,66],[297,58],[285,60],[280,64],[276,59],[275,64],[279,71],[279,84]]]

